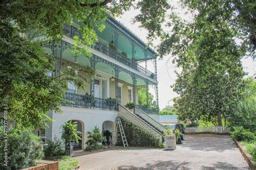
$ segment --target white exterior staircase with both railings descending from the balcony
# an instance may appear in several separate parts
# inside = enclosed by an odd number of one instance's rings
[[[135,107],[135,113],[133,113],[120,104],[118,104],[118,111],[120,117],[124,118],[126,121],[133,123],[134,125],[139,126],[139,128],[142,128],[143,130],[153,134],[153,136],[159,138],[160,143],[162,142],[162,135],[166,128],[155,119],[147,115],[144,111]]]

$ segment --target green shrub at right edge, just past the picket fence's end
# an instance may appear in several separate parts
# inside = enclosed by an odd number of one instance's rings
[[[255,138],[255,134],[240,126],[239,128],[234,128],[234,131],[231,132],[231,137],[238,141],[251,141]]]

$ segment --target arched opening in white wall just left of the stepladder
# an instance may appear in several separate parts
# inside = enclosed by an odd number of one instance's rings
[[[114,123],[112,121],[105,121],[102,124],[102,133],[105,137],[103,145],[109,146],[111,144],[112,134],[114,130]]]

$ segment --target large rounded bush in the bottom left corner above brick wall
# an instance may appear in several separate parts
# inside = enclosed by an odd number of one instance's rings
[[[4,128],[0,126],[0,161],[4,156]],[[17,129],[8,130],[8,167],[7,169],[28,168],[36,164],[36,160],[42,159],[43,142],[41,138],[31,131],[20,132]],[[6,166],[0,164],[1,169]]]

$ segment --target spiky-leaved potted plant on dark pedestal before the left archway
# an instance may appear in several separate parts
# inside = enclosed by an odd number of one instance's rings
[[[73,124],[72,121],[70,122],[65,122],[61,127],[62,129],[62,139],[65,140],[66,145],[66,154],[70,155],[73,157],[73,146],[71,146],[71,141],[75,141],[78,143],[78,140],[81,138],[77,135],[77,133],[80,133],[77,131],[77,124]]]

